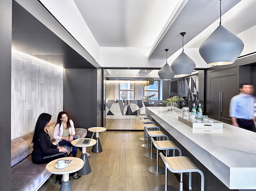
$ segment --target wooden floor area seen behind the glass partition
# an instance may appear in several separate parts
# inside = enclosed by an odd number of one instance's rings
[[[140,118],[135,119],[106,119],[105,128],[119,130],[144,130]]]

